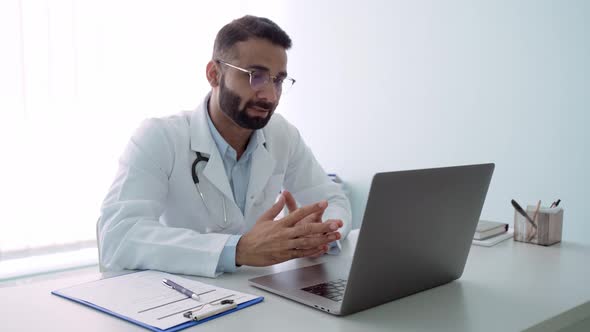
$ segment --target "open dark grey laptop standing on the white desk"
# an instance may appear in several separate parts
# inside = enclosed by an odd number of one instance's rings
[[[377,173],[352,260],[269,274],[250,284],[348,315],[458,279],[494,164]]]

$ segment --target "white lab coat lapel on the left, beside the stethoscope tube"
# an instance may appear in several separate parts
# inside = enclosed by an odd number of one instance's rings
[[[207,100],[209,100],[208,96],[191,116],[191,150],[209,155],[209,161],[203,169],[203,176],[219,189],[230,202],[234,202],[234,196],[223,166],[223,159],[221,159],[219,149],[215,145],[207,123],[207,115],[205,114]]]

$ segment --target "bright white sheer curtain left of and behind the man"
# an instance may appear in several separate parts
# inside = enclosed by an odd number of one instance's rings
[[[93,245],[131,133],[198,104],[215,34],[246,7],[0,2],[0,259]]]

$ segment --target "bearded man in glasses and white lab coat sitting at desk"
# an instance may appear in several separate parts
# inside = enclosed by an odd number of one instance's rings
[[[347,235],[348,199],[297,129],[273,115],[294,83],[290,47],[266,18],[219,31],[203,103],[146,120],[120,159],[98,222],[104,268],[214,277],[319,256]],[[289,214],[274,220],[285,205]]]

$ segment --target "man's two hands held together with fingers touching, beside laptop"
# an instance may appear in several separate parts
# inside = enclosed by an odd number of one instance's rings
[[[284,206],[285,195],[281,194],[254,227],[240,238],[236,247],[237,265],[268,266],[293,258],[318,256],[328,250],[328,243],[340,239],[337,230],[342,227],[342,221],[315,222],[318,216],[321,220],[328,202],[295,209],[275,221]]]

